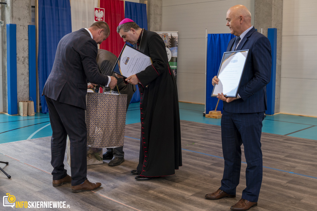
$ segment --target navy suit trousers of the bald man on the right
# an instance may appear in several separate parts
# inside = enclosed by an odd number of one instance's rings
[[[261,133],[264,112],[230,113],[223,110],[221,136],[224,158],[223,179],[220,189],[236,194],[240,180],[241,145],[247,162],[246,185],[242,198],[257,202],[262,183]]]

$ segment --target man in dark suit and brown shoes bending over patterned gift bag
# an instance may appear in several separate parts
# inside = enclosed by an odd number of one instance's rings
[[[58,43],[52,71],[43,94],[52,127],[51,164],[53,186],[71,183],[73,192],[97,189],[101,183],[87,180],[87,127],[85,122],[87,81],[114,88],[117,79],[104,76],[96,62],[97,44],[110,34],[106,22],[66,34]],[[70,140],[71,177],[64,169],[66,138]]]

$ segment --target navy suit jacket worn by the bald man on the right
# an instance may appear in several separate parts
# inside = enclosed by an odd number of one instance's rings
[[[231,51],[235,38],[230,40]],[[223,102],[223,109],[232,113],[258,113],[267,109],[266,84],[271,78],[271,45],[267,37],[253,27],[241,40],[236,51],[249,49],[243,77],[238,89],[240,99]]]

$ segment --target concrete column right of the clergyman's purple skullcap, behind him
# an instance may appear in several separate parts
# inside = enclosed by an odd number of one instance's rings
[[[144,3],[140,0],[140,3]],[[147,0],[147,29],[162,31],[162,0]]]

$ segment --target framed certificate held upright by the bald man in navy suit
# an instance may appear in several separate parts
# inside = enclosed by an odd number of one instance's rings
[[[212,90],[212,97],[223,93],[226,97],[237,97],[249,50],[224,52],[218,70],[218,84]]]

